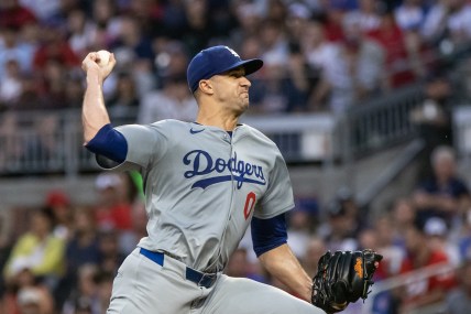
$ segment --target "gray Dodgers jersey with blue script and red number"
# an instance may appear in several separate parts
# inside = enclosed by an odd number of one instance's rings
[[[294,206],[288,171],[260,131],[164,120],[117,128],[128,141],[118,169],[144,180],[147,235],[139,246],[167,251],[194,269],[221,271],[252,216]]]

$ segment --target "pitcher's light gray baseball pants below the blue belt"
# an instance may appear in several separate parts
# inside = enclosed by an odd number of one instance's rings
[[[165,256],[163,266],[135,249],[113,282],[107,314],[324,314],[293,295],[253,280],[220,274],[210,286],[186,280],[186,266]]]

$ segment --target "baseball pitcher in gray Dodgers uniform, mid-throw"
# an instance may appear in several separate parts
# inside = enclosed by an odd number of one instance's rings
[[[116,64],[108,57],[92,52],[83,62],[85,144],[101,166],[142,174],[149,217],[149,237],[114,279],[109,314],[335,313],[366,297],[381,256],[326,252],[311,279],[286,243],[294,207],[286,164],[269,138],[238,121],[249,108],[247,76],[261,59],[204,50],[187,68],[195,122],[113,128],[102,95]],[[222,273],[249,225],[263,267],[300,297]]]

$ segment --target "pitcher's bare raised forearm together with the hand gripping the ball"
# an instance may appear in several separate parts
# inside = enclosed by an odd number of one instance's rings
[[[98,55],[89,53],[81,63],[81,68],[86,73],[86,90],[81,109],[81,122],[84,126],[84,140],[87,144],[98,131],[110,123],[108,110],[105,106],[103,82],[116,65],[114,55],[106,66],[99,66]]]

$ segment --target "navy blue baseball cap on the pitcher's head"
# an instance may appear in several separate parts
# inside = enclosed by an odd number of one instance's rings
[[[216,74],[221,74],[237,67],[243,67],[245,75],[252,74],[263,66],[260,58],[241,59],[240,56],[228,46],[213,46],[200,51],[190,61],[186,71],[188,87],[191,93],[198,89],[199,80],[208,79]]]

